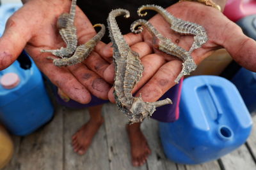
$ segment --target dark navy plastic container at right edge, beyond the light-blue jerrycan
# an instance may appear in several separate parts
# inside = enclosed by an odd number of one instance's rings
[[[256,111],[256,73],[241,68],[232,78],[250,112]]]

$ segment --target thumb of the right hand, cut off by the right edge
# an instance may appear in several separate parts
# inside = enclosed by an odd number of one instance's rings
[[[222,46],[239,65],[256,72],[256,41],[245,36],[238,26],[229,30]]]

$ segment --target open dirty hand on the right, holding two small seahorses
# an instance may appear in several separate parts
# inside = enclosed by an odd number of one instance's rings
[[[182,2],[167,8],[175,17],[195,22],[205,27],[208,41],[201,48],[191,53],[196,64],[199,64],[218,48],[226,48],[233,59],[241,66],[256,71],[256,43],[243,34],[241,29],[228,20],[220,11],[200,3]],[[150,11],[148,11],[150,12]],[[170,29],[170,25],[156,15],[149,20],[156,29],[172,39],[173,42],[189,50],[193,43],[193,36],[181,36]],[[143,77],[134,87],[136,96],[142,94],[144,101],[156,101],[164,92],[175,85],[175,78],[180,73],[182,62],[176,57],[159,52],[154,46],[152,36],[143,31],[142,34],[127,34],[124,36],[132,50],[138,52],[145,67]],[[102,50],[105,57],[111,57],[110,45]],[[104,73],[104,78],[113,82],[114,66],[111,64]],[[139,90],[140,89],[140,90]],[[113,88],[109,91],[109,100],[114,102]]]

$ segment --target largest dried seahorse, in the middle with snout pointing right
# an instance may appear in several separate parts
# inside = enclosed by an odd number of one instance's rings
[[[129,122],[142,122],[145,117],[150,117],[157,107],[172,104],[168,98],[156,102],[144,102],[140,97],[132,96],[132,89],[143,73],[138,53],[131,50],[125,42],[115,17],[130,16],[129,11],[124,9],[112,10],[108,15],[109,37],[113,43],[113,62],[115,64],[114,96],[116,105],[129,118]]]

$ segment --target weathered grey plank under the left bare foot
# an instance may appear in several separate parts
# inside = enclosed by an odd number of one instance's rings
[[[78,155],[72,148],[72,135],[84,125],[90,118],[87,109],[70,110],[65,109],[64,113],[64,150],[65,161],[64,169],[109,169],[108,146],[106,143],[106,131],[104,125],[99,129],[92,141],[92,145],[88,148],[84,155]]]

